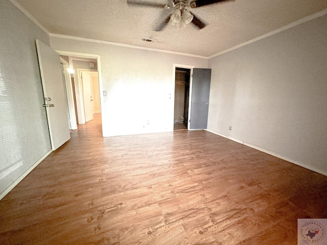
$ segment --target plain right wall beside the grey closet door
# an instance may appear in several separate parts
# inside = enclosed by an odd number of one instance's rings
[[[326,27],[327,15],[209,60],[208,129],[327,175]]]

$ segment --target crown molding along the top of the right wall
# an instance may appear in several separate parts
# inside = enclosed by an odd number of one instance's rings
[[[310,20],[313,20],[313,19],[319,18],[319,17],[321,17],[321,16],[323,16],[323,15],[326,15],[326,14],[327,14],[327,9],[324,9],[324,10],[322,10],[322,11],[319,11],[319,12],[317,12],[317,13],[314,13],[314,14],[309,15],[309,16],[307,16],[307,17],[304,17],[304,18],[302,18],[302,19],[296,20],[296,21],[294,21],[294,22],[292,22],[292,23],[290,23],[290,24],[287,24],[287,25],[284,26],[284,27],[278,28],[278,29],[276,29],[276,30],[274,30],[274,31],[272,31],[272,32],[268,32],[268,33],[266,33],[266,34],[264,34],[264,35],[262,35],[262,36],[260,36],[260,37],[256,37],[256,38],[254,38],[254,39],[252,39],[252,40],[249,40],[249,41],[247,41],[247,42],[240,43],[240,44],[238,44],[238,45],[236,45],[236,46],[233,46],[233,47],[231,47],[231,48],[228,48],[227,50],[224,50],[224,51],[222,51],[222,52],[219,52],[219,53],[217,53],[217,54],[215,54],[215,55],[212,55],[212,56],[209,56],[209,57],[207,57],[207,58],[208,58],[208,59],[212,59],[212,58],[217,57],[217,56],[219,56],[219,55],[222,55],[222,54],[228,53],[228,52],[230,52],[230,51],[236,50],[237,48],[240,48],[240,47],[243,47],[243,46],[248,45],[248,44],[250,44],[250,43],[253,43],[253,42],[259,41],[259,40],[264,39],[264,38],[266,38],[266,37],[270,37],[270,36],[275,35],[275,34],[277,34],[277,33],[279,33],[279,32],[283,32],[283,31],[288,30],[288,29],[290,29],[290,28],[296,27],[296,26],[298,26],[299,24],[302,24],[302,23],[308,22],[308,21],[310,21]]]

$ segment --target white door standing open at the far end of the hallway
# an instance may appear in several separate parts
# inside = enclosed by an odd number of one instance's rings
[[[94,114],[94,100],[92,95],[93,86],[91,84],[91,77],[87,71],[82,71],[82,81],[85,122],[87,122],[93,119]]]

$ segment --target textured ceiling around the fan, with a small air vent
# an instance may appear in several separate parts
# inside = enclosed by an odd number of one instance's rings
[[[168,4],[169,0],[147,0]],[[236,0],[192,9],[207,26],[153,31],[171,12],[126,0],[16,0],[50,33],[209,57],[327,8],[326,0]],[[141,38],[157,40],[148,43]]]

